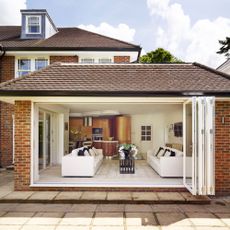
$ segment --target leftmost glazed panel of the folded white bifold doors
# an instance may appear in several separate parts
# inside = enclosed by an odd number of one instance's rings
[[[184,103],[183,109],[183,182],[193,194],[197,191],[197,103],[193,97]]]

